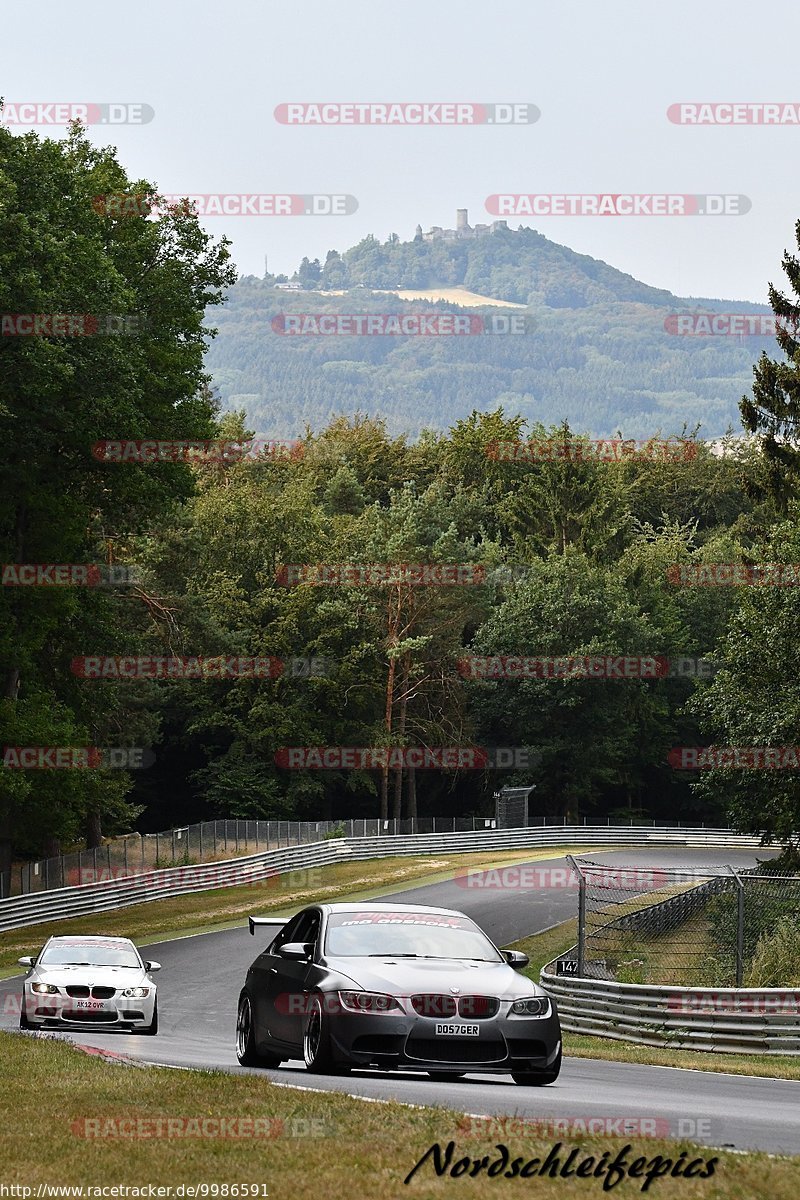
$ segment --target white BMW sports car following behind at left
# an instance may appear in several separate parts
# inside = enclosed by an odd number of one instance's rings
[[[28,967],[20,1030],[128,1027],[158,1032],[158,1000],[151,971],[127,937],[50,937]]]

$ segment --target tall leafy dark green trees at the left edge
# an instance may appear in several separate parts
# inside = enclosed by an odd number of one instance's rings
[[[2,337],[0,560],[130,562],[132,534],[186,498],[181,463],[109,467],[104,438],[201,438],[213,430],[203,355],[209,306],[235,278],[216,244],[182,210],[151,220],[97,211],[109,192],[155,191],[127,178],[113,150],[76,125],[64,142],[0,126],[0,312],[133,317],[133,335]],[[80,686],[70,660],[101,642],[136,649],[143,599],[80,588],[0,589],[4,745],[149,744],[139,698]],[[97,641],[95,641],[97,640]],[[34,778],[36,776],[36,778]],[[0,769],[0,875],[19,848],[94,836],[130,823],[130,779],[102,770]]]

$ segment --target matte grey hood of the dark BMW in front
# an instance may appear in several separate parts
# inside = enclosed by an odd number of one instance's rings
[[[531,979],[506,962],[470,962],[463,959],[330,958],[331,970],[347,976],[365,991],[392,995],[444,992],[445,995],[499,996],[516,1000],[543,995]],[[458,988],[458,992],[451,992]]]

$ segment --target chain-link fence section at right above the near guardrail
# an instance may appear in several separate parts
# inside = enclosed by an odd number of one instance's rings
[[[800,986],[800,876],[768,868],[609,866],[578,876],[581,978],[699,988]]]

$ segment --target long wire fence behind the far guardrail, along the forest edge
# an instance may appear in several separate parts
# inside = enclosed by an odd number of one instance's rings
[[[584,818],[584,826],[587,824]],[[547,824],[547,822],[545,822]],[[593,822],[594,824],[594,822]],[[566,826],[566,821],[564,822]],[[650,822],[619,822],[620,828],[648,828]],[[656,822],[651,826],[655,828]],[[410,817],[405,821],[203,821],[166,833],[128,834],[94,850],[24,863],[14,869],[10,895],[30,895],[55,888],[79,887],[166,866],[213,863],[236,854],[285,846],[307,846],[327,838],[407,836],[423,833],[476,833],[497,828],[494,817]],[[658,822],[658,828],[680,829]],[[613,828],[610,821],[607,828]],[[0,880],[0,888],[2,881]],[[2,892],[0,890],[0,899]]]

